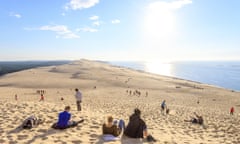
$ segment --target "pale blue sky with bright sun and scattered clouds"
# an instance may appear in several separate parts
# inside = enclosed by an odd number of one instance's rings
[[[0,0],[0,60],[240,60],[240,0]]]

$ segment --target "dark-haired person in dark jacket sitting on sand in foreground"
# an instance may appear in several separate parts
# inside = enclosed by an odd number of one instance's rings
[[[141,111],[136,108],[134,113],[129,118],[129,123],[124,131],[124,134],[131,138],[147,138],[148,141],[155,142],[156,140],[148,134],[147,125],[140,117]]]

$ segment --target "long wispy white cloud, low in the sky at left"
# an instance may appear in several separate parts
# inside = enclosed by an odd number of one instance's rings
[[[78,35],[70,31],[65,25],[55,25],[55,26],[46,25],[46,26],[40,27],[39,30],[56,32],[57,38],[66,38],[66,39],[79,38]]]

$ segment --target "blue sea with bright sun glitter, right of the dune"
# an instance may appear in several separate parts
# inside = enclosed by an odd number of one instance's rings
[[[109,62],[135,70],[177,77],[240,91],[240,61]]]

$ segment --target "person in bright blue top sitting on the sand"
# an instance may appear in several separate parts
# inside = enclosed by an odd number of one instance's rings
[[[53,124],[52,128],[55,129],[66,129],[69,127],[74,127],[77,126],[79,123],[83,122],[84,120],[80,120],[80,121],[70,121],[71,119],[71,113],[70,111],[70,106],[66,106],[64,111],[59,113],[58,115],[58,122]]]

